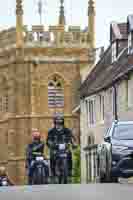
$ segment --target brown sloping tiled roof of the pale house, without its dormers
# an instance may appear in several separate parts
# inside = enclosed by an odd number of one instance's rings
[[[94,70],[80,88],[81,98],[91,96],[112,86],[115,82],[125,77],[130,71],[133,71],[133,62],[129,63],[127,55],[128,49],[124,48],[117,62],[114,64],[99,62]],[[110,54],[110,49],[105,53],[105,57]]]

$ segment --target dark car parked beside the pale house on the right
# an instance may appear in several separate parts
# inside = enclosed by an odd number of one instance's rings
[[[100,182],[118,182],[133,176],[133,121],[115,121],[98,145]]]

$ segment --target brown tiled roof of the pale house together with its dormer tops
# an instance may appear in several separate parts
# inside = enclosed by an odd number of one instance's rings
[[[102,58],[92,69],[86,80],[80,87],[82,97],[96,94],[113,86],[117,81],[133,71],[133,58],[128,55],[128,30],[133,30],[133,15],[128,16],[127,23],[113,22],[110,25],[110,46],[104,52]],[[112,63],[112,42],[119,41],[119,55]],[[132,60],[131,60],[132,59]]]

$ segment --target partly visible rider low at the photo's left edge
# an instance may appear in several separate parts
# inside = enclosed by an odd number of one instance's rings
[[[2,182],[3,181],[7,182],[8,186],[13,186],[13,182],[9,179],[8,175],[7,175],[7,171],[6,168],[4,166],[0,167],[0,186],[3,186]]]

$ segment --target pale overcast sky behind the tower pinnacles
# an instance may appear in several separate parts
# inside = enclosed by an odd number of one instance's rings
[[[43,23],[56,24],[59,13],[59,0],[42,0]],[[24,0],[25,24],[39,24],[38,0]],[[65,0],[67,24],[87,25],[88,0]],[[15,0],[1,0],[0,29],[15,25]],[[108,45],[109,24],[111,21],[126,21],[133,14],[133,0],[96,0],[96,39],[97,46]]]

